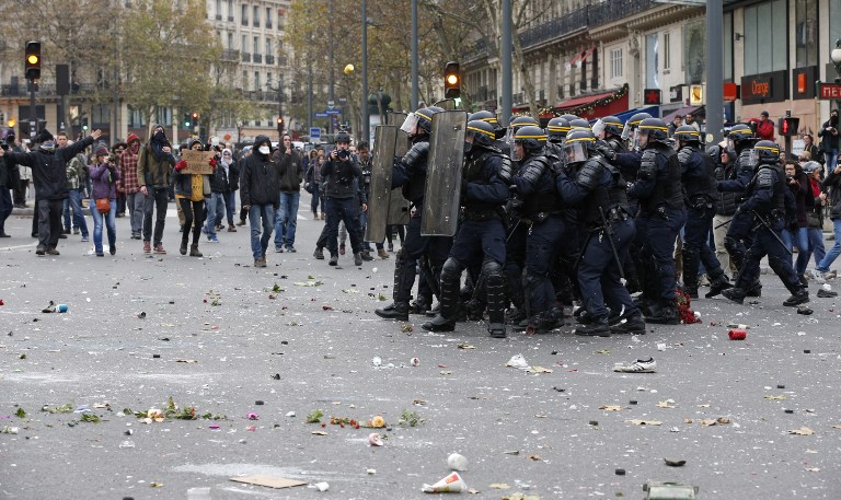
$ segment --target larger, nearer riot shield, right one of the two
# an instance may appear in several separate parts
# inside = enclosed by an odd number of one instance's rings
[[[465,112],[433,115],[420,217],[420,234],[424,236],[452,236],[458,229],[466,125]]]

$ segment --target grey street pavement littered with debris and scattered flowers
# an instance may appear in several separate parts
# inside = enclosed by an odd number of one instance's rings
[[[652,480],[701,499],[841,498],[839,301],[817,284],[811,315],[783,307],[767,275],[754,303],[701,299],[702,323],[643,336],[430,334],[422,316],[373,315],[391,301],[393,254],[312,258],[323,222],[308,207],[304,195],[298,253],[270,252],[264,269],[245,228],[183,257],[170,217],[170,253],[149,256],[122,218],[113,257],[78,235],[36,257],[31,219],[12,216],[0,499],[420,499],[453,452],[480,499],[642,499]],[[42,313],[50,301],[67,312]],[[747,338],[729,340],[728,323]],[[506,368],[516,354],[531,370]],[[612,371],[648,357],[655,373]],[[150,409],[165,418],[134,415]],[[366,427],[378,416],[384,428]],[[330,487],[230,480],[249,475]]]

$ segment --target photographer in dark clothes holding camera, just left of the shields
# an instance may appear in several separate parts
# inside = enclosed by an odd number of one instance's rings
[[[336,148],[331,151],[330,156],[324,161],[321,167],[321,177],[326,179],[327,187],[325,191],[324,210],[327,213],[326,236],[327,249],[330,251],[330,265],[338,265],[338,222],[344,221],[347,232],[350,235],[350,247],[354,251],[354,265],[362,265],[362,242],[359,237],[359,219],[357,218],[358,208],[355,206],[355,195],[357,186],[360,186],[362,179],[362,170],[359,163],[350,154],[350,136],[347,132],[336,135]],[[354,185],[354,179],[358,183]],[[368,210],[367,199],[362,194],[362,211]]]

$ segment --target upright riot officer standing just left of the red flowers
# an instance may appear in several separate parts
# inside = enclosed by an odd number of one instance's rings
[[[642,148],[640,171],[627,194],[640,200],[636,230],[643,269],[637,271],[648,301],[646,322],[676,325],[673,251],[687,219],[680,162],[669,146],[668,128],[659,118],[640,123],[637,143]]]

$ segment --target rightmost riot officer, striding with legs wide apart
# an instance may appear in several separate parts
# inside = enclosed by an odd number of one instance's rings
[[[759,263],[768,255],[768,264],[780,277],[792,296],[783,305],[794,306],[809,301],[809,291],[804,287],[792,266],[792,254],[781,237],[785,225],[785,172],[780,166],[780,147],[771,141],[759,141],[753,147],[759,160],[757,173],[748,183],[746,200],[736,209],[739,214],[749,216],[753,223],[754,237],[739,272],[736,287],[722,292],[727,299],[741,304],[747,289],[759,277]]]

